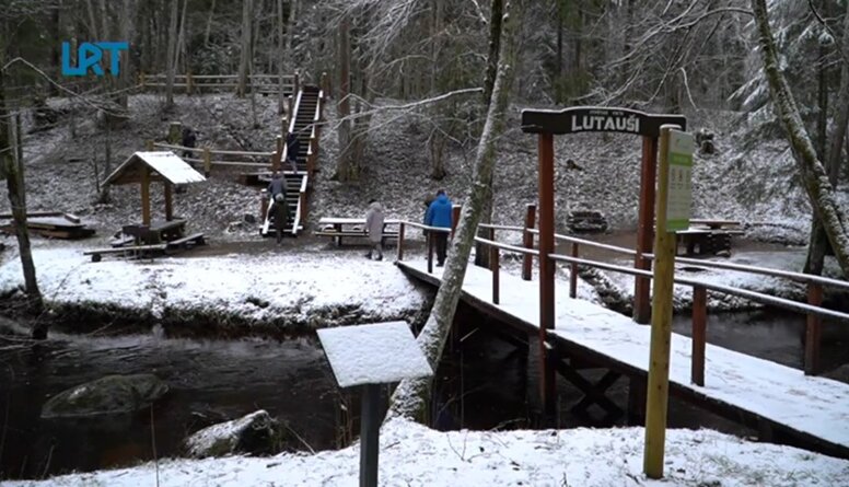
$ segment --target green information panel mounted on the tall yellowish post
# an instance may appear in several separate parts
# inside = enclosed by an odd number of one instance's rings
[[[693,135],[670,130],[670,175],[666,179],[666,231],[687,230],[693,200]]]

